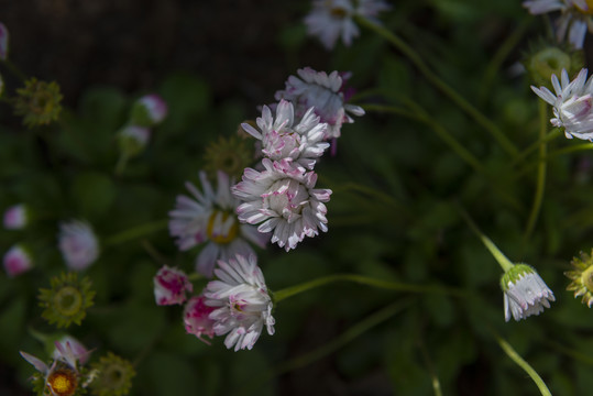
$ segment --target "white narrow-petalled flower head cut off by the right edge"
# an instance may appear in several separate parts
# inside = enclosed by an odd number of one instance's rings
[[[568,139],[593,139],[593,79],[587,79],[586,73],[586,69],[582,69],[572,81],[567,70],[562,70],[560,81],[552,75],[556,95],[546,87],[531,86],[537,96],[553,107],[554,118],[550,122],[554,127],[564,128]]]

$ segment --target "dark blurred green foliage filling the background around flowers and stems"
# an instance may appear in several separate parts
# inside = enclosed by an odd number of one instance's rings
[[[295,21],[301,11],[295,10]],[[382,16],[388,30],[520,151],[538,140],[539,99],[526,75],[509,70],[545,26],[530,19],[520,1],[399,1]],[[504,62],[493,65],[518,29],[523,38]],[[319,45],[296,22],[272,34],[284,52],[278,55],[292,67],[286,76],[311,61],[299,58],[305,47]],[[430,395],[433,377],[443,395],[537,395],[493,331],[534,366],[552,394],[590,394],[593,316],[565,292],[563,272],[573,256],[592,248],[591,153],[560,154],[575,144],[564,139],[548,144],[545,199],[534,232],[525,238],[536,188],[535,152],[514,163],[402,53],[370,31],[362,30],[351,47],[339,45],[327,53],[323,62],[328,72],[353,73],[350,85],[359,90],[358,105],[419,103],[480,160],[483,172],[468,165],[411,111],[409,117],[367,111],[343,127],[337,155],[327,155],[316,168],[318,187],[333,190],[329,232],[289,253],[275,245],[259,252],[268,287],[356,273],[454,287],[462,296],[331,284],[278,304],[276,334],[264,333],[252,351],[228,351],[221,339],[205,345],[185,333],[182,307],[155,306],[152,284],[164,263],[191,272],[199,248],[178,252],[164,227],[113,241],[125,230],[166,220],[184,182],[197,180],[207,145],[234,135],[257,110],[240,98],[215,99],[199,75],[172,72],[155,89],[169,108],[168,117],[153,130],[146,150],[116,175],[116,132],[135,97],[116,87],[88,87],[76,109],[63,110],[58,123],[33,130],[0,127],[0,208],[26,202],[35,213],[26,230],[0,230],[2,250],[24,241],[35,257],[35,267],[23,276],[0,274],[0,355],[24,387],[32,367],[19,350],[46,356],[28,330],[55,331],[41,318],[36,294],[64,270],[57,224],[84,218],[101,241],[99,260],[85,272],[97,292],[96,304],[81,326],[68,331],[96,349],[94,354],[113,351],[130,360],[138,373],[132,395],[293,395],[305,389],[311,395]],[[488,68],[495,73],[486,74]],[[551,309],[526,321],[504,322],[501,271],[455,211],[455,202],[512,261],[538,270],[556,292]],[[406,298],[409,305],[393,318],[328,355],[282,374],[275,371]]]

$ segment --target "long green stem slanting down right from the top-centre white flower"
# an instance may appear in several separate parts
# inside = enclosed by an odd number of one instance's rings
[[[498,144],[510,155],[516,156],[519,152],[517,147],[504,135],[504,133],[482,112],[480,112],[475,107],[473,107],[466,99],[453,90],[449,85],[441,80],[422,61],[420,55],[406,44],[402,38],[389,32],[383,26],[377,25],[369,21],[365,18],[356,18],[356,22],[367,29],[380,34],[392,43],[397,50],[399,50],[408,59],[416,65],[416,67],[424,74],[426,79],[432,84],[437,89],[443,92],[449,99],[451,99],[461,110],[465,111],[470,117],[472,117],[480,125],[482,125],[486,131],[488,131],[494,139],[498,141]]]

